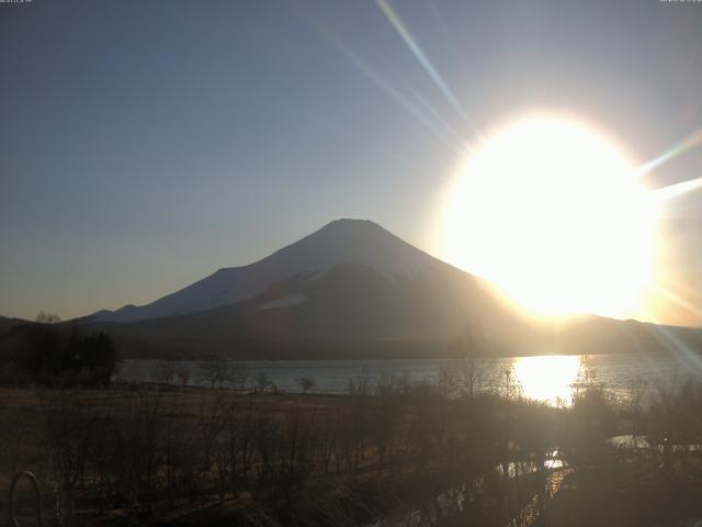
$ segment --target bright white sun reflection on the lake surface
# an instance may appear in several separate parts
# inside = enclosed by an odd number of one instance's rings
[[[579,370],[580,359],[573,355],[520,357],[513,365],[522,395],[548,404],[570,402]]]

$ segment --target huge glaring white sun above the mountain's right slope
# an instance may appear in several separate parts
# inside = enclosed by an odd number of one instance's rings
[[[545,316],[641,316],[653,280],[656,211],[621,147],[559,116],[488,137],[444,206],[444,254]]]

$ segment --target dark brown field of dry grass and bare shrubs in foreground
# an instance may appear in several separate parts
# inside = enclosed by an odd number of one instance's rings
[[[116,384],[0,390],[0,512],[44,525],[683,526],[702,390],[571,406],[386,377],[346,396]],[[608,442],[613,436],[621,441]],[[634,436],[645,436],[634,440]],[[631,440],[630,440],[631,439]],[[35,525],[27,482],[20,525]]]

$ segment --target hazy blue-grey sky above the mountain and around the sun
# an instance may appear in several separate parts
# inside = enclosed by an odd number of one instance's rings
[[[143,304],[338,217],[434,256],[468,147],[525,110],[641,162],[702,126],[702,3],[0,3],[0,314]],[[702,148],[646,175],[702,176]],[[702,191],[663,220],[701,325]]]

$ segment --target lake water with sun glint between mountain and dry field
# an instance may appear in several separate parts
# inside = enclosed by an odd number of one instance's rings
[[[186,371],[189,385],[210,385],[207,367],[199,361],[170,363],[173,371]],[[126,360],[117,372],[124,381],[160,381],[163,362]],[[265,377],[279,391],[299,392],[299,379],[315,383],[315,393],[344,394],[350,380],[365,380],[373,389],[381,380],[407,379],[409,382],[439,383],[453,375],[458,379],[461,363],[451,359],[394,360],[281,360],[229,361],[225,386],[253,389]],[[480,360],[474,368],[477,385],[511,391],[551,404],[568,403],[582,382],[595,382],[623,397],[636,392],[650,393],[661,386],[680,384],[689,377],[702,378],[700,357],[655,355],[559,355],[507,357]],[[173,378],[173,383],[180,383]]]

